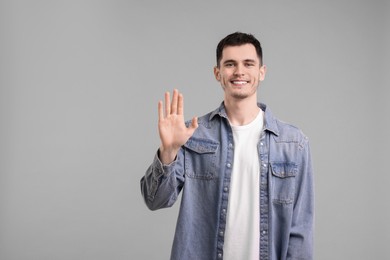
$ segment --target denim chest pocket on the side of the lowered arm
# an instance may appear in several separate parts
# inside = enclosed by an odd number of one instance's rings
[[[271,162],[272,199],[276,204],[292,204],[298,166],[293,162]]]

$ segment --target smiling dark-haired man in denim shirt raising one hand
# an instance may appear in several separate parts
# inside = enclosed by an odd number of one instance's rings
[[[183,96],[158,104],[161,146],[141,179],[151,210],[182,192],[171,259],[312,259],[308,139],[257,102],[260,42],[233,33],[217,47],[218,109],[185,124]]]

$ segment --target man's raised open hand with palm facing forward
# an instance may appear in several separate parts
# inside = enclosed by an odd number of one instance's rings
[[[164,164],[169,164],[175,159],[180,147],[187,142],[198,127],[196,117],[192,118],[189,127],[185,125],[183,103],[183,95],[177,89],[173,91],[172,102],[169,92],[165,93],[165,113],[163,102],[158,102],[160,160]]]

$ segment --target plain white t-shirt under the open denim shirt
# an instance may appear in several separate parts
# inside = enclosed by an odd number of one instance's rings
[[[257,144],[263,111],[251,123],[233,126],[234,161],[226,219],[224,259],[259,259],[260,164]]]

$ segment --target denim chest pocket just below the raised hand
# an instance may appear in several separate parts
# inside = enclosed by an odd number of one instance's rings
[[[185,174],[190,178],[212,180],[217,175],[219,144],[208,139],[190,138],[184,145]]]

